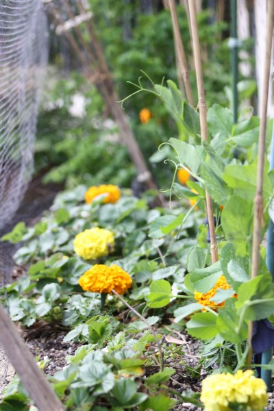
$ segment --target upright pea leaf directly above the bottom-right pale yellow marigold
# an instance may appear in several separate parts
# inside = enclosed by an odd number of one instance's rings
[[[247,338],[247,325],[238,328],[239,317],[235,308],[236,299],[225,301],[225,308],[218,312],[216,326],[221,336],[229,343],[242,343]]]

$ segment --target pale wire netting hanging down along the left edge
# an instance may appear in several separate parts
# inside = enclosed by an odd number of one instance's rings
[[[0,0],[0,228],[14,216],[32,176],[38,98],[48,55],[47,19],[40,0]],[[12,258],[0,242],[0,287]],[[0,303],[7,304],[2,293]],[[0,394],[8,359],[0,347]]]

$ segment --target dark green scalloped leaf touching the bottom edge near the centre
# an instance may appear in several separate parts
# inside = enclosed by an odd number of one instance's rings
[[[119,379],[112,389],[114,399],[110,398],[110,403],[125,409],[134,408],[140,405],[140,403],[147,399],[147,395],[137,393],[137,388],[137,384],[131,379]]]

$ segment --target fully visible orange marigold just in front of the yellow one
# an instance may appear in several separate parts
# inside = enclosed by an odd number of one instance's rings
[[[79,285],[84,291],[110,294],[112,290],[115,290],[118,294],[124,294],[132,285],[132,279],[116,264],[110,267],[95,264],[79,278]]]

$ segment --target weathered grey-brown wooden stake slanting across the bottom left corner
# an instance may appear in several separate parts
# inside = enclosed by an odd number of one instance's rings
[[[25,342],[0,304],[0,345],[39,411],[64,411],[47,378],[38,368]]]

